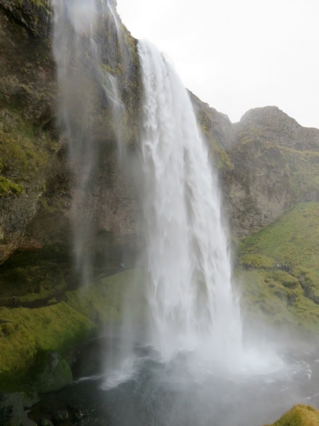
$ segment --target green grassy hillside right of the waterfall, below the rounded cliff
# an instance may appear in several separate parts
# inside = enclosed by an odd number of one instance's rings
[[[250,313],[275,324],[319,324],[319,203],[299,203],[238,247],[236,278]]]

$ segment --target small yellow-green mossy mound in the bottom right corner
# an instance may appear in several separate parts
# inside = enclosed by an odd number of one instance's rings
[[[279,420],[265,426],[319,426],[319,411],[310,405],[295,405]]]

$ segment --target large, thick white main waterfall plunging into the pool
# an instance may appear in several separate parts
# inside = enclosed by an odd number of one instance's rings
[[[138,50],[149,343],[164,360],[205,346],[215,361],[231,362],[241,320],[217,179],[176,72],[152,44]]]

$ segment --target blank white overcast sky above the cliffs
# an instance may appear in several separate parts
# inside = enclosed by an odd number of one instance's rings
[[[117,11],[232,122],[276,105],[319,128],[319,0],[117,0]]]

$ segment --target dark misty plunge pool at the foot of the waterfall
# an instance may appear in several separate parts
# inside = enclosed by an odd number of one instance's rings
[[[297,403],[319,407],[315,350],[282,352],[282,366],[267,372],[221,373],[205,365],[195,374],[185,355],[165,364],[149,348],[137,348],[134,373],[109,388],[105,365],[113,344],[101,339],[86,348],[74,364],[74,383],[43,395],[30,417],[54,419],[58,410],[67,410],[70,420],[56,424],[258,426]]]

